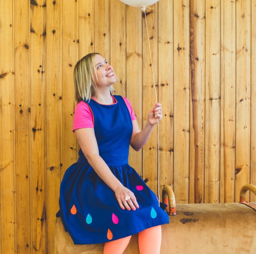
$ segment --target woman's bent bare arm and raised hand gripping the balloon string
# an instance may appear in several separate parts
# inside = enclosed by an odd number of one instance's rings
[[[162,105],[157,103],[154,108],[149,111],[147,123],[143,130],[140,131],[137,120],[132,121],[133,131],[130,145],[134,150],[139,151],[147,143],[155,124],[162,118]]]

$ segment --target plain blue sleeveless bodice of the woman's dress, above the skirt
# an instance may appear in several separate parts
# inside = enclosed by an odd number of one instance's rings
[[[114,98],[116,102],[111,105],[103,105],[93,99],[85,102],[93,114],[94,133],[100,156],[108,165],[124,165],[128,163],[132,121],[122,96],[117,95]],[[88,163],[81,149],[79,156],[79,163]]]

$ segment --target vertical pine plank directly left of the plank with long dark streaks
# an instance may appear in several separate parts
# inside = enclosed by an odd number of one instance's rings
[[[174,3],[174,193],[177,203],[189,202],[190,137],[190,3]],[[181,187],[182,186],[182,187]]]

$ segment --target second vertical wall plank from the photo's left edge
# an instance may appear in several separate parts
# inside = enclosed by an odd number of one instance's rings
[[[15,153],[16,153],[16,220],[17,253],[31,253],[30,232],[30,170],[29,170],[29,2],[18,1],[14,6],[15,33]],[[20,184],[22,183],[22,184]],[[24,216],[27,214],[27,216]]]

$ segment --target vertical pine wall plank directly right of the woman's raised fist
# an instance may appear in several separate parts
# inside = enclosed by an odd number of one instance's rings
[[[159,190],[173,184],[173,1],[158,3],[158,100],[163,105],[159,123]]]

